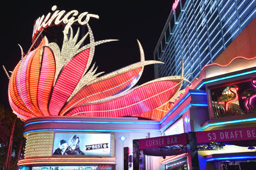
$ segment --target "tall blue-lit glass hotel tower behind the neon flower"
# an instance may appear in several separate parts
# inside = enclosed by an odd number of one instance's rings
[[[154,50],[154,59],[165,63],[155,66],[155,77],[180,74],[183,60],[192,81],[255,16],[255,1],[175,1]]]

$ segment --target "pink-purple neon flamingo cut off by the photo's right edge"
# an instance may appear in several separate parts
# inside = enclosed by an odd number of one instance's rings
[[[252,79],[252,85],[256,88],[255,82],[256,78]],[[252,111],[253,104],[252,100],[256,97],[256,90],[255,89],[247,89],[241,94],[241,98],[244,99],[244,107],[247,112]]]

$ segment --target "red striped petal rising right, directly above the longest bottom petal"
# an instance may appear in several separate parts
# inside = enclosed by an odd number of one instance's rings
[[[122,90],[129,87],[132,81],[136,80],[136,77],[140,73],[142,67],[134,69],[132,71],[127,71],[126,73],[113,76],[106,80],[98,81],[92,85],[88,85],[81,89],[76,96],[65,106],[60,115],[63,115],[65,111],[75,108],[77,106],[82,106],[91,101],[97,101],[99,99],[104,99],[109,96],[113,96]]]

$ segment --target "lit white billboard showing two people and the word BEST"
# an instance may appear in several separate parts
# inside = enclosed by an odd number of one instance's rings
[[[54,133],[52,155],[111,156],[111,133]]]

